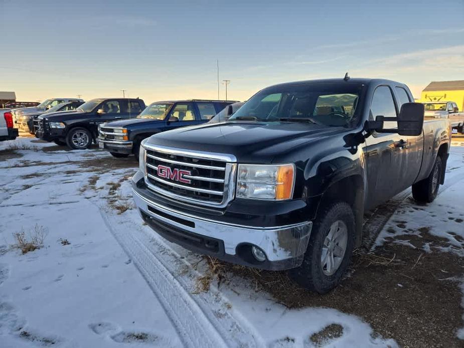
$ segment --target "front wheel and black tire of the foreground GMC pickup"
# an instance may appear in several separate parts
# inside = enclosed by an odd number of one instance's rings
[[[351,262],[355,245],[355,216],[348,203],[322,208],[314,221],[301,266],[289,271],[299,285],[324,294],[336,287]]]

